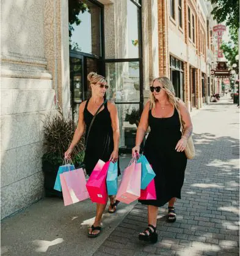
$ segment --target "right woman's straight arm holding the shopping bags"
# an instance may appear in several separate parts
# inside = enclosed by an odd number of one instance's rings
[[[144,111],[142,111],[142,115],[140,118],[139,126],[137,127],[137,134],[136,134],[136,146],[132,149],[132,154],[134,155],[134,152],[139,152],[140,145],[142,143],[142,140],[144,139],[144,135],[147,132],[148,129],[148,112],[150,110],[150,102],[148,101],[147,104],[144,107]]]

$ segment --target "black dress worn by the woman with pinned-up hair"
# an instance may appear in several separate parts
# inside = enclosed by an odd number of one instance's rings
[[[93,115],[87,110],[87,100],[84,108],[84,122],[86,124],[85,137],[89,131],[89,126]],[[112,121],[110,113],[107,109],[107,102],[104,104],[104,109],[98,112],[93,121],[87,141],[84,164],[87,175],[90,175],[99,159],[107,162],[114,150],[114,138],[112,131]],[[118,175],[120,170],[118,167]]]

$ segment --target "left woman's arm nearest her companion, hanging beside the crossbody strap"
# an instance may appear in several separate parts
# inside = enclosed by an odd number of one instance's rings
[[[113,136],[114,136],[114,151],[111,154],[110,160],[117,160],[118,159],[118,146],[119,146],[119,139],[120,139],[117,107],[115,106],[114,102],[107,102],[107,108],[108,108],[110,116],[111,116],[112,131],[113,131]]]

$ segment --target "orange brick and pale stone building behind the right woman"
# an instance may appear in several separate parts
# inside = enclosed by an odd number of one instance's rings
[[[159,75],[171,78],[191,111],[209,102],[214,83],[211,10],[203,0],[158,1]]]

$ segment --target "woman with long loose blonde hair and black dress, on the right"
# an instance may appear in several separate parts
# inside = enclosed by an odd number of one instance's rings
[[[187,164],[184,149],[187,139],[192,134],[192,122],[184,102],[175,97],[169,78],[155,78],[150,91],[150,100],[145,105],[137,128],[133,155],[134,152],[139,152],[145,132],[150,126],[151,131],[145,142],[144,155],[156,173],[156,200],[139,200],[143,205],[148,205],[148,227],[145,232],[139,234],[139,239],[154,243],[158,240],[156,233],[158,207],[168,202],[167,219],[169,222],[176,220],[174,203],[176,198],[181,198]],[[183,135],[177,110],[180,111],[183,119]]]

